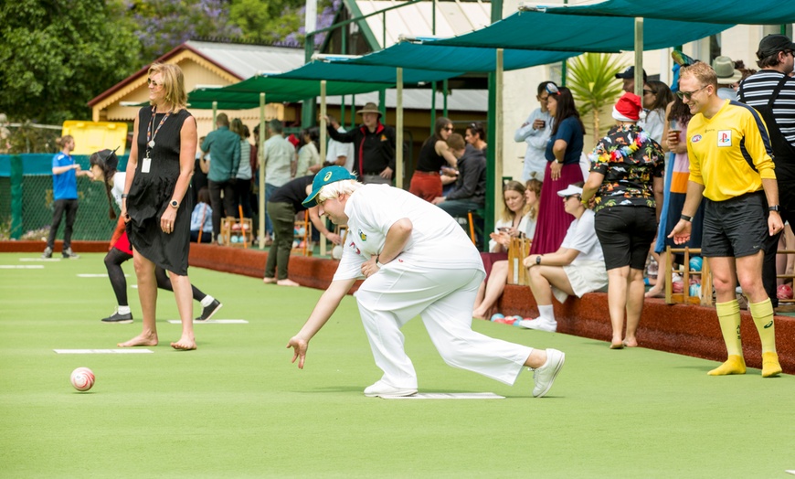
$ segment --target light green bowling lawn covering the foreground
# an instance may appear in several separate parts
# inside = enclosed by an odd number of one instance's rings
[[[224,303],[177,352],[172,293],[161,292],[154,354],[57,355],[111,348],[141,329],[104,325],[114,300],[101,254],[0,265],[0,476],[3,477],[786,477],[795,469],[789,376],[710,378],[715,362],[475,321],[484,334],[556,347],[566,366],[548,397],[532,373],[514,387],[446,366],[421,322],[404,328],[423,392],[507,399],[386,400],[355,298],[310,344],[306,368],[285,345],[321,292],[191,269]],[[125,264],[135,283],[132,261]],[[198,311],[198,303],[196,312]],[[757,340],[747,338],[747,340]],[[97,381],[80,393],[75,367]]]

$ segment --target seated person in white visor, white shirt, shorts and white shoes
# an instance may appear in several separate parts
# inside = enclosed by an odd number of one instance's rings
[[[554,333],[557,321],[552,310],[552,296],[563,303],[568,296],[581,298],[608,285],[605,259],[594,229],[594,212],[582,205],[582,183],[557,192],[563,207],[574,217],[560,249],[554,253],[525,258],[529,268],[530,291],[538,305],[538,317],[521,321],[528,329]]]

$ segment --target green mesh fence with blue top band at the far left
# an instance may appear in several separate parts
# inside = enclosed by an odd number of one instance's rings
[[[46,239],[52,223],[53,154],[0,154],[0,239]],[[89,156],[75,155],[83,169]],[[127,156],[119,158],[124,170]],[[108,218],[108,197],[100,182],[78,178],[78,208],[72,239],[106,240],[116,225]],[[64,223],[57,239],[63,239]]]

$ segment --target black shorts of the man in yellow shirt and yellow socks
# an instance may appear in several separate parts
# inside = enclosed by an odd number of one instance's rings
[[[762,191],[712,201],[704,199],[705,258],[742,258],[765,250],[768,240],[768,202]]]

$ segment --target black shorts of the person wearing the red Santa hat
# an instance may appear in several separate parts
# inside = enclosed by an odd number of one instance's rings
[[[646,266],[649,248],[657,236],[654,208],[602,208],[596,214],[594,225],[608,271],[624,266],[642,270]]]

